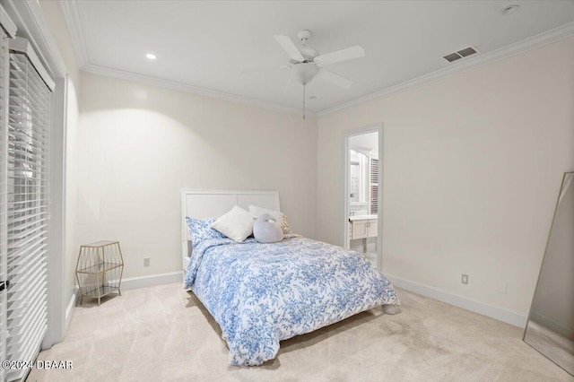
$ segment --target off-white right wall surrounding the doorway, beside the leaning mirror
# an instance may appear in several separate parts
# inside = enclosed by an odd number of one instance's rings
[[[318,239],[343,242],[343,132],[382,122],[383,272],[526,317],[574,169],[573,67],[562,39],[319,118]]]

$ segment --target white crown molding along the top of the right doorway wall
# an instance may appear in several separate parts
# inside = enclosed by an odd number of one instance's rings
[[[466,60],[460,60],[455,64],[451,64],[444,69],[439,69],[430,74],[424,74],[419,77],[413,78],[406,82],[399,83],[395,86],[385,88],[381,91],[375,91],[366,96],[360,97],[349,102],[345,102],[341,105],[335,106],[331,109],[326,109],[319,111],[317,117],[326,117],[331,114],[343,111],[344,109],[350,109],[352,107],[364,104],[370,100],[376,100],[378,98],[389,97],[404,91],[410,91],[414,88],[422,86],[425,83],[439,80],[440,78],[446,77],[451,74],[457,74],[460,72],[465,72],[479,66],[488,65],[510,56],[517,56],[528,50],[542,47],[544,45],[550,44],[552,42],[558,41],[560,39],[565,39],[574,35],[574,22],[564,24],[558,28],[552,30],[547,30],[543,33],[537,34],[533,37],[520,40],[514,44],[508,45],[503,48],[493,50],[489,53],[479,54],[476,56],[471,56]]]

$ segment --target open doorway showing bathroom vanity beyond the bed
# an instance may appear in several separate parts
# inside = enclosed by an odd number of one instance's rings
[[[344,247],[382,268],[383,126],[344,135]]]

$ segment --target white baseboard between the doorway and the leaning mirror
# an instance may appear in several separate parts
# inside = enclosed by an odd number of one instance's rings
[[[523,316],[517,312],[513,312],[504,308],[493,307],[477,300],[469,299],[467,297],[453,294],[448,291],[441,291],[437,288],[433,288],[419,282],[405,280],[390,274],[387,274],[387,278],[390,282],[393,283],[393,285],[398,288],[402,288],[405,291],[413,291],[414,293],[421,294],[422,296],[430,297],[431,299],[446,302],[447,304],[454,305],[458,308],[470,310],[471,312],[478,313],[479,315],[506,322],[512,326],[517,326],[523,329],[526,327],[526,321],[528,317]]]

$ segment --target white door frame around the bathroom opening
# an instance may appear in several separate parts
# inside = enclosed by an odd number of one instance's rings
[[[349,240],[349,139],[355,135],[363,135],[369,133],[378,133],[378,232],[377,232],[377,269],[379,271],[383,268],[383,169],[384,169],[384,131],[383,123],[376,125],[368,125],[355,127],[343,132],[343,167],[344,167],[344,205],[341,209],[341,221],[343,224],[343,247],[348,248]]]

